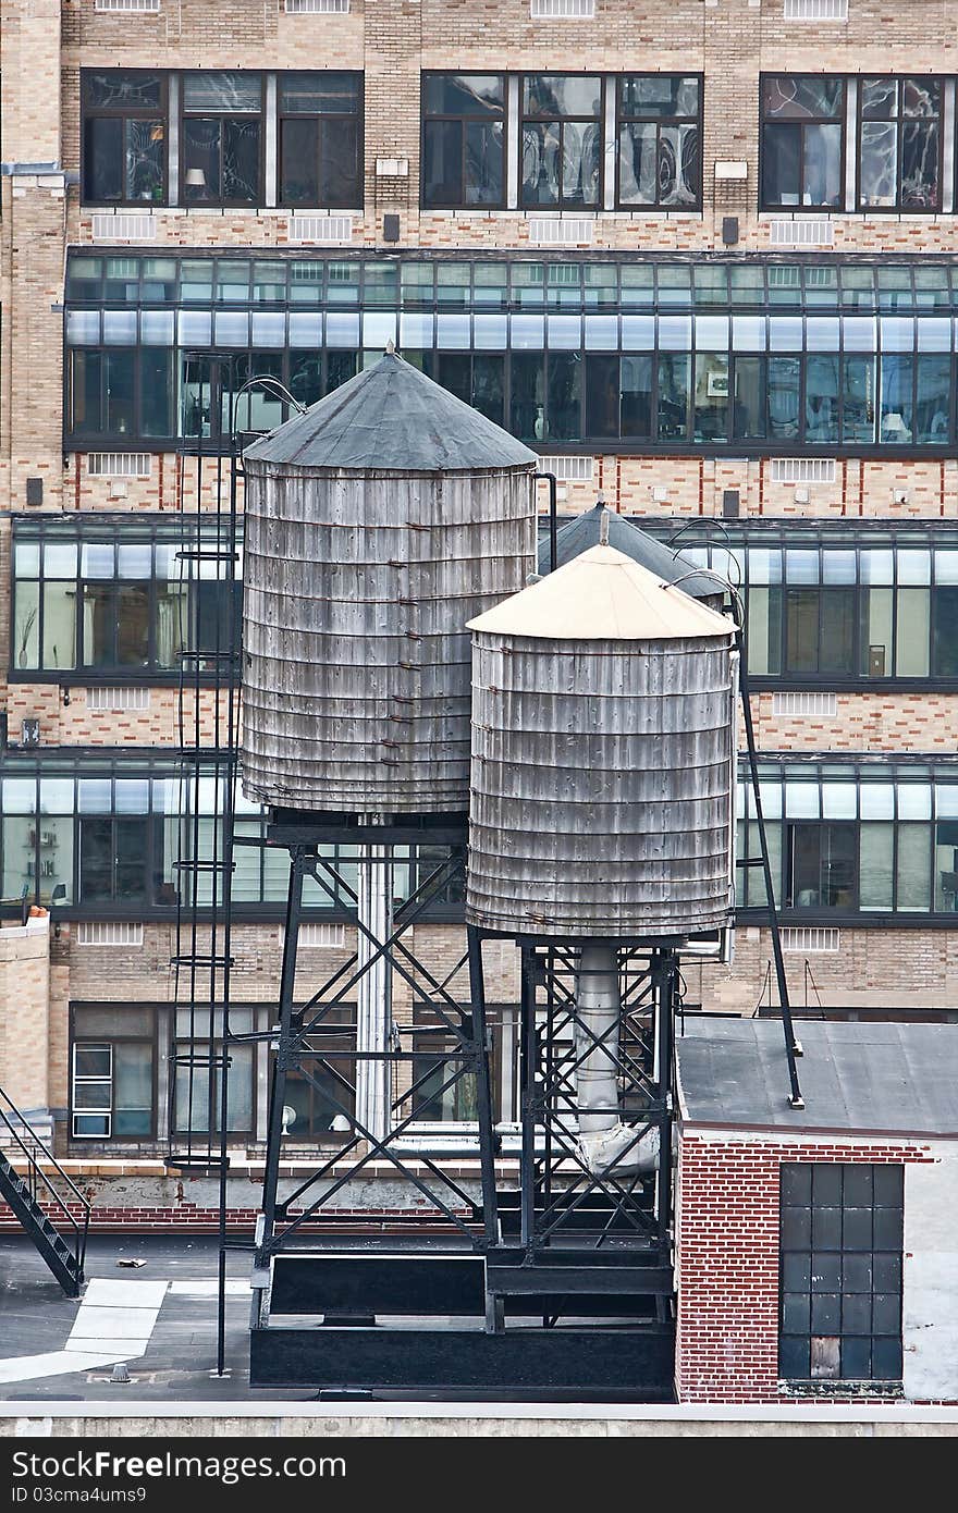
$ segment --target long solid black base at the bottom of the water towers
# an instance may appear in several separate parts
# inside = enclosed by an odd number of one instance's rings
[[[250,1386],[486,1400],[673,1401],[669,1324],[616,1328],[334,1328],[250,1336]]]

